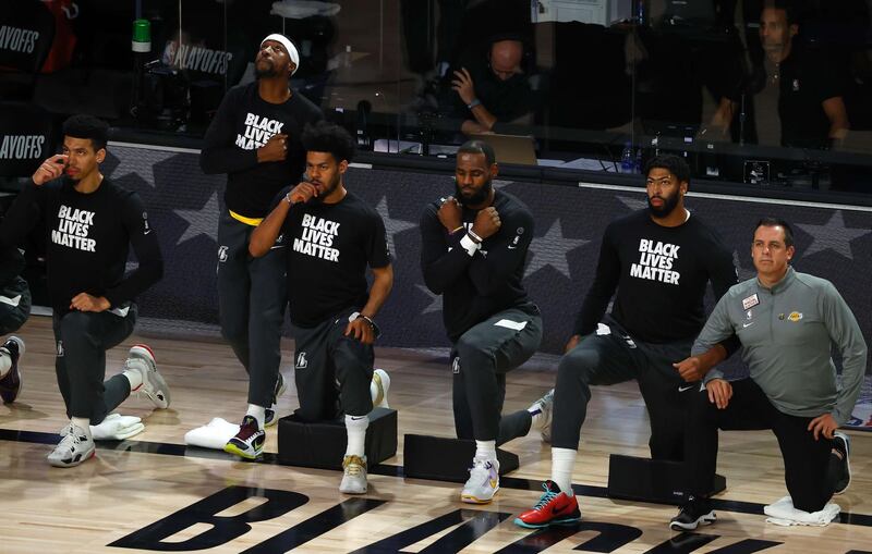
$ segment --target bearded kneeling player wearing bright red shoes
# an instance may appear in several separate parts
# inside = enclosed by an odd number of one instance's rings
[[[690,354],[705,322],[707,283],[719,298],[736,283],[736,268],[718,234],[685,209],[687,162],[656,157],[645,173],[647,209],[611,222],[603,235],[596,276],[557,370],[552,479],[533,509],[516,518],[519,526],[581,517],[572,469],[591,385],[637,380],[651,420],[651,456],[682,459],[686,405],[694,386],[673,364]],[[603,319],[616,290],[611,312]],[[735,350],[737,345],[734,340],[718,347]]]

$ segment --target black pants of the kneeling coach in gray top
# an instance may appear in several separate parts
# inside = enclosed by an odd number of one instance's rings
[[[725,409],[708,401],[708,393],[693,394],[687,419],[685,465],[690,491],[704,497],[711,491],[717,465],[717,430],[748,431],[772,429],[784,457],[785,484],[794,507],[806,512],[823,509],[833,496],[836,478],[829,458],[833,441],[808,430],[814,418],[783,414],[751,379],[734,381],[732,398]]]

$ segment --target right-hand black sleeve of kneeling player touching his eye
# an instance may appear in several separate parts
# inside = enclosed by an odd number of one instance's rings
[[[160,281],[164,276],[164,258],[157,235],[148,224],[145,206],[136,193],[124,198],[121,221],[130,237],[140,266],[114,287],[106,292],[106,299],[114,307],[132,300]]]

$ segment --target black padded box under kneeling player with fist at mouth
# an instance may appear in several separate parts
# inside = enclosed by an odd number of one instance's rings
[[[342,469],[348,434],[339,421],[303,422],[290,415],[279,419],[279,463],[287,466]],[[397,410],[373,408],[366,428],[366,465],[397,454]]]

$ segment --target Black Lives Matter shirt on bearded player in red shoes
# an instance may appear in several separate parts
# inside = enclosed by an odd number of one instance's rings
[[[639,210],[606,227],[574,332],[594,332],[617,288],[611,317],[630,335],[649,343],[692,340],[705,323],[707,282],[720,298],[737,279],[732,251],[698,217],[665,227]]]

